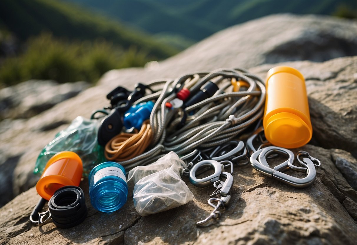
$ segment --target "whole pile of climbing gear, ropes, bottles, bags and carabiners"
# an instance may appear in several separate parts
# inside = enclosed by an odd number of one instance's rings
[[[106,97],[109,105],[90,119],[77,117],[40,153],[34,172],[42,174],[36,185],[41,199],[32,223],[80,224],[87,207],[78,186],[88,176],[91,205],[102,212],[124,206],[131,195],[127,181],[133,181],[142,216],[186,204],[192,188],[211,188],[213,210],[196,223],[202,226],[233,201],[237,168],[250,163],[263,175],[305,188],[321,165],[306,151],[289,150],[312,137],[305,79],[292,67],[274,67],[266,83],[244,69],[218,69],[139,83],[132,91],[119,86]],[[279,156],[287,160],[270,167],[267,159]],[[49,209],[41,212],[47,200]]]

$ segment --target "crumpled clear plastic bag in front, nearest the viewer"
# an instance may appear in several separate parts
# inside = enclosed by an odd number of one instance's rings
[[[143,177],[134,186],[134,206],[141,216],[156,214],[193,200],[175,166]]]

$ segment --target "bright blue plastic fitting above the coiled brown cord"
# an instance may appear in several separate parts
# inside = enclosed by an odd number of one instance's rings
[[[149,119],[153,107],[154,102],[152,101],[131,106],[124,114],[124,126],[127,129],[135,127],[140,130],[142,123]]]

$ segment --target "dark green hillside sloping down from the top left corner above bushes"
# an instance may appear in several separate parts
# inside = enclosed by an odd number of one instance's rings
[[[70,3],[56,0],[1,0],[0,26],[24,41],[42,31],[72,40],[104,38],[123,48],[136,46],[156,59],[177,52],[144,33],[137,33],[117,21],[86,12]]]

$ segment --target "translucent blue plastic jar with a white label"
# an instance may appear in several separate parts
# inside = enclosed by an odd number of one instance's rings
[[[89,196],[95,209],[113,212],[120,209],[128,196],[125,169],[116,162],[103,162],[89,174]]]

